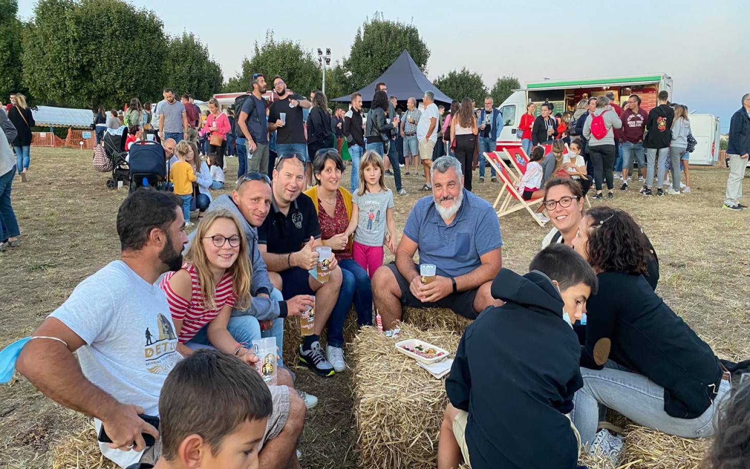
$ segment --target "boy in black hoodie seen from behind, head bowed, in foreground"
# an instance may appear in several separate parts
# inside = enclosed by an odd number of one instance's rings
[[[446,380],[438,469],[573,469],[577,432],[565,414],[583,386],[571,323],[596,275],[573,249],[540,251],[520,276],[502,269],[487,308],[466,328]]]

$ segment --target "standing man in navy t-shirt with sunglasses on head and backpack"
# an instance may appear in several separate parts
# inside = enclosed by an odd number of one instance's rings
[[[250,170],[266,174],[269,170],[269,122],[266,119],[266,101],[263,99],[266,92],[263,74],[253,75],[252,86],[253,92],[242,104],[237,123],[247,139]],[[243,164],[240,161],[241,167]]]

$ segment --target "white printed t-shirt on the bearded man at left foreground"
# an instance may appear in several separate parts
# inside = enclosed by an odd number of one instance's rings
[[[83,341],[78,361],[86,379],[122,404],[159,413],[166,375],[182,358],[164,292],[126,263],[115,260],[86,280],[52,314]],[[97,431],[101,422],[95,419]],[[110,449],[102,454],[121,467],[139,461],[141,452]]]

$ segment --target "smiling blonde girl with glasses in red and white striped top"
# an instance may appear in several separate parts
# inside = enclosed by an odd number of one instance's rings
[[[251,302],[251,268],[248,243],[240,223],[226,209],[208,212],[196,228],[182,268],[165,275],[160,287],[166,293],[172,321],[178,331],[183,354],[211,345],[257,361],[249,342],[251,331],[229,332],[233,308],[248,308]]]

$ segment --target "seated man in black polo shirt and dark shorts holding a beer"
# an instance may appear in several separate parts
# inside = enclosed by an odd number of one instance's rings
[[[303,157],[296,153],[281,154],[273,176],[271,211],[258,228],[258,248],[266,261],[269,278],[284,299],[315,295],[314,334],[303,338],[299,362],[320,376],[332,376],[335,371],[320,347],[319,337],[338,300],[341,269],[332,255],[329,280],[325,284],[308,272],[317,266],[315,248],[322,243],[314,203],[302,194]]]

